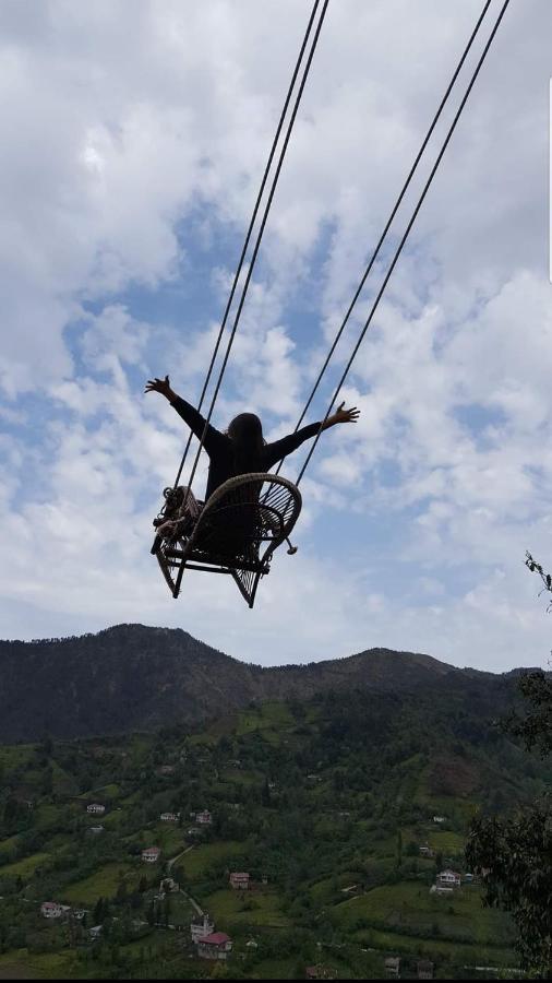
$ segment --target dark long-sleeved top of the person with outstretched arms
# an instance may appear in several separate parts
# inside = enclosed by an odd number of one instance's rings
[[[205,429],[205,417],[195,410],[190,403],[181,396],[172,400],[171,406],[175,407],[178,415],[188,424],[190,429],[201,440]],[[301,427],[296,434],[289,434],[280,440],[274,440],[272,443],[265,443],[262,450],[261,471],[268,472],[278,461],[281,461],[287,454],[297,450],[304,440],[315,437],[320,429],[320,423],[309,424],[308,427]],[[203,447],[209,457],[209,472],[207,478],[207,488],[205,492],[205,500],[213,494],[215,488],[223,485],[228,478],[236,477],[233,463],[233,446],[232,441],[226,434],[216,430],[211,424],[207,427]]]

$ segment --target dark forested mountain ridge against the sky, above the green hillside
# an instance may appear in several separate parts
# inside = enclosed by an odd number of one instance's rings
[[[252,701],[309,699],[357,688],[434,690],[489,712],[508,700],[507,675],[458,670],[429,655],[371,649],[308,665],[247,664],[181,629],[119,625],[97,635],[0,642],[0,742],[82,737],[197,724]]]

